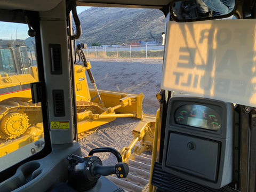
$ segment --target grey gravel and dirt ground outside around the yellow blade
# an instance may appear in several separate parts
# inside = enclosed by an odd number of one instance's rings
[[[143,93],[143,113],[155,115],[159,107],[156,93],[161,90],[162,59],[88,59],[98,89],[121,91],[126,93]],[[90,83],[89,86],[93,87]],[[133,140],[132,130],[139,119],[126,117],[101,125],[91,135],[79,140],[83,156],[97,147],[113,147],[118,151],[128,146]],[[95,154],[103,165],[115,164],[114,155]]]

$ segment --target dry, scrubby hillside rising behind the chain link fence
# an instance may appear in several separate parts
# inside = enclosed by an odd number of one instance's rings
[[[82,35],[77,42],[89,46],[92,43],[116,45],[151,40],[161,42],[165,27],[164,14],[157,9],[91,7],[78,14],[78,17]]]

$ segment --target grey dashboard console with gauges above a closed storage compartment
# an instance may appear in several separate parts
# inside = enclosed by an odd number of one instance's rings
[[[162,169],[221,188],[232,180],[233,103],[197,97],[169,100]]]

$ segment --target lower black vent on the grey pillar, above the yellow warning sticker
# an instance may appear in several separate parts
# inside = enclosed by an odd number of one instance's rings
[[[55,117],[65,116],[64,92],[63,90],[53,90],[54,115]]]

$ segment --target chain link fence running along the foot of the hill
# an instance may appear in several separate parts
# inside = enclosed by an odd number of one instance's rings
[[[87,47],[87,58],[146,58],[163,59],[164,46],[161,44],[110,45]]]

